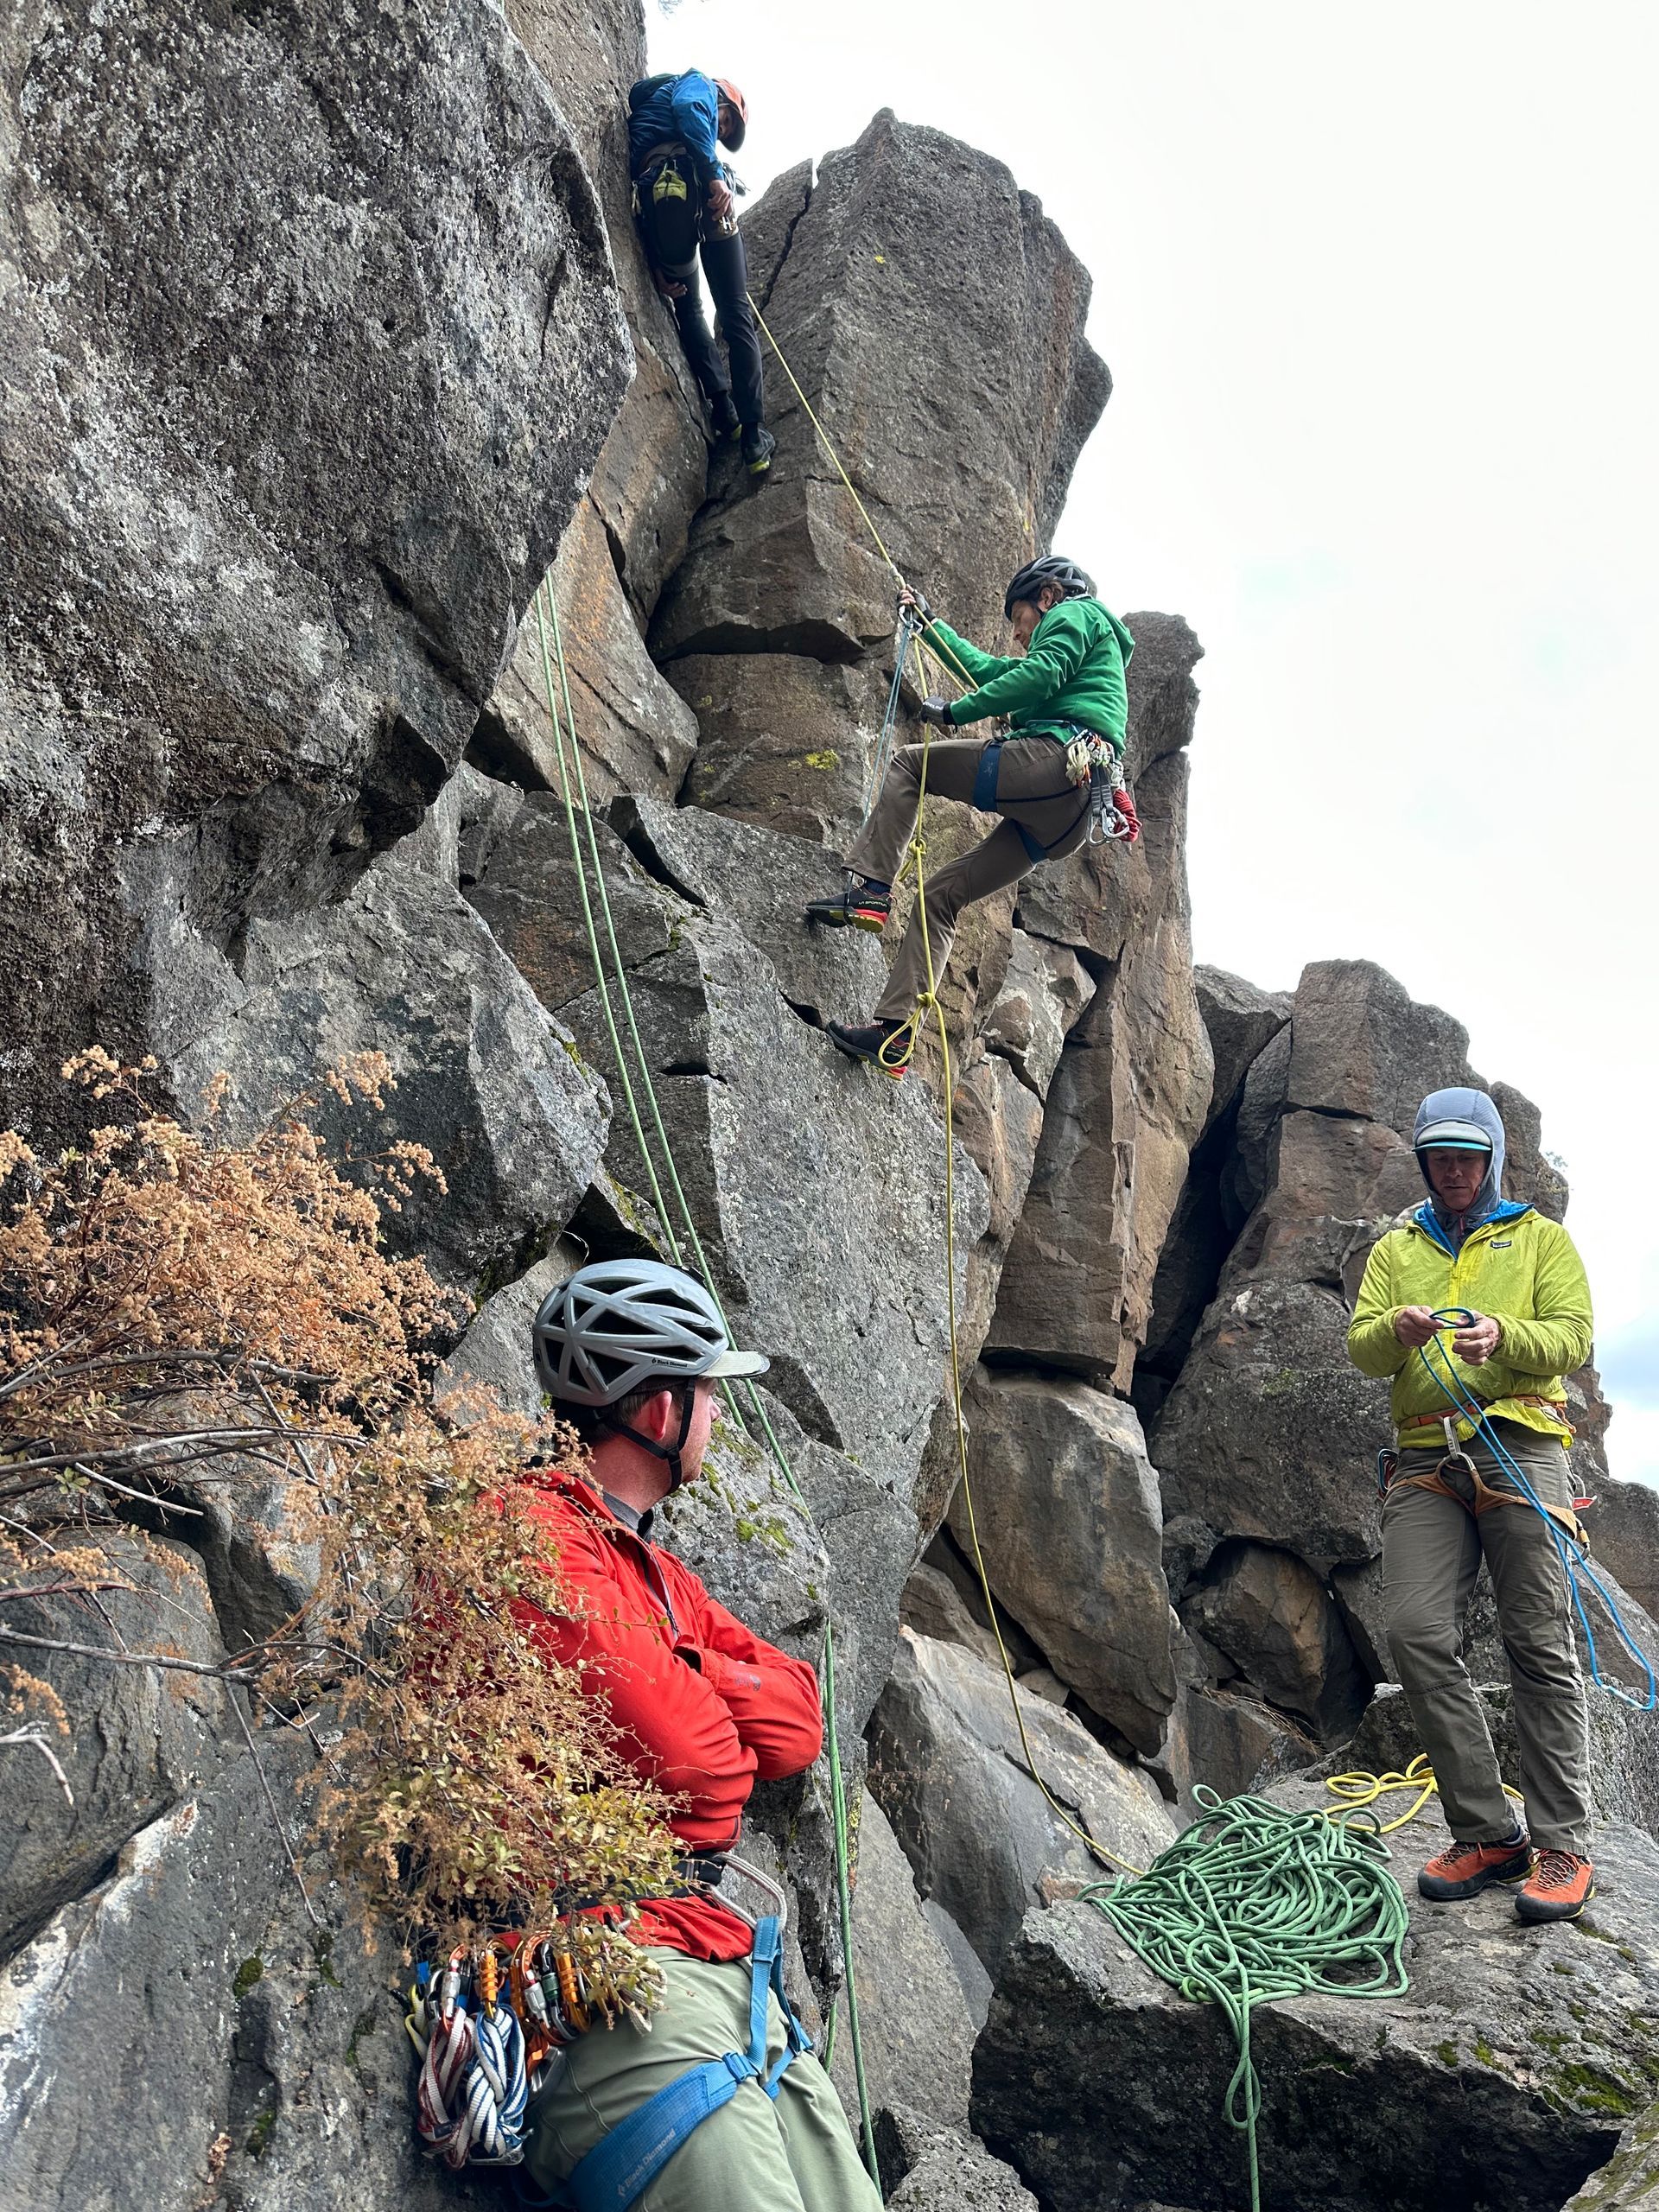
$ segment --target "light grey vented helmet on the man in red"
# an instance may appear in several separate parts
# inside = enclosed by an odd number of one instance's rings
[[[734,1352],[712,1294],[659,1259],[597,1259],[551,1290],[531,1323],[535,1371],[557,1405],[606,1407],[646,1383],[763,1376]]]

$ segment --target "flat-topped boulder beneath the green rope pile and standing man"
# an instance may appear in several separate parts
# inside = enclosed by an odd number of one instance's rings
[[[1422,1816],[1409,1834],[1407,1867],[1444,1827]],[[1500,1891],[1411,1896],[1405,1995],[1254,2013],[1265,2203],[1555,2212],[1610,2157],[1659,2081],[1659,1847],[1613,1827],[1597,1849],[1606,1902],[1579,1922],[1528,1929]],[[998,1975],[973,2126],[1055,2212],[1237,2203],[1232,2064],[1214,2006],[1159,1982],[1088,1905],[1062,1902],[1026,1916]],[[1079,2081],[1113,2095],[1079,2099]]]

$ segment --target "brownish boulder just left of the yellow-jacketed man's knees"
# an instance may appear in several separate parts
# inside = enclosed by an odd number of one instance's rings
[[[1225,1544],[1181,1608],[1270,1703],[1325,1743],[1352,1734],[1371,1679],[1325,1584],[1287,1551]]]

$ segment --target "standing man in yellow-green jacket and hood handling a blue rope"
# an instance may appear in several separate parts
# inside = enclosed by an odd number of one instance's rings
[[[1500,1197],[1504,1124],[1484,1091],[1431,1093],[1413,1148],[1429,1199],[1371,1252],[1347,1352],[1367,1376],[1394,1376],[1383,1601],[1453,1836],[1418,1889],[1471,1898],[1489,1882],[1522,1882],[1522,1920],[1575,1920],[1595,1893],[1584,1677],[1551,1515],[1520,1495],[1504,1458],[1568,1531],[1562,1378],[1590,1356],[1590,1287],[1566,1230]],[[1460,1325],[1442,1327],[1436,1314],[1451,1307]],[[1458,1394],[1478,1400],[1480,1427],[1455,1411],[1453,1376]],[[1509,1655],[1524,1825],[1462,1663],[1482,1555]]]

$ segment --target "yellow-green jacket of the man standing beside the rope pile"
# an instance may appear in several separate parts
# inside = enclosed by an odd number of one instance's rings
[[[1394,1334],[1394,1318],[1405,1305],[1431,1312],[1467,1305],[1491,1314],[1504,1336],[1484,1367],[1464,1367],[1451,1352],[1451,1336],[1440,1338],[1458,1383],[1489,1413],[1544,1436],[1571,1438],[1566,1411],[1555,1411],[1566,1407],[1562,1376],[1584,1365],[1595,1334],[1590,1285],[1573,1239],[1559,1221],[1531,1206],[1504,1206],[1498,1219],[1471,1230],[1460,1252],[1451,1252],[1425,1217],[1431,1223],[1427,1206],[1374,1248],[1347,1332],[1347,1356],[1363,1374],[1394,1376],[1389,1411],[1400,1444],[1444,1451],[1438,1418],[1451,1411],[1422,1358]],[[1429,1347],[1436,1367],[1440,1352]],[[1436,1425],[1413,1427],[1422,1413],[1433,1413]],[[1471,1436],[1473,1422],[1460,1420],[1458,1438],[1467,1442]]]

